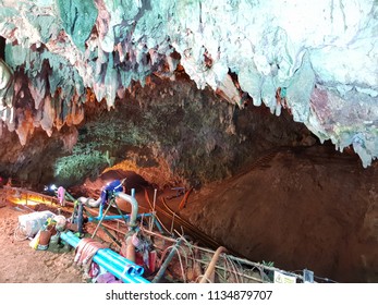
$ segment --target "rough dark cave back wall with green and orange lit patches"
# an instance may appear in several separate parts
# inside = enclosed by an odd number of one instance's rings
[[[135,85],[114,110],[87,102],[73,154],[56,162],[63,184],[95,179],[103,169],[133,170],[159,186],[199,187],[237,172],[278,146],[316,139],[289,113],[240,109],[211,89],[199,90],[182,72],[174,82],[153,76]]]

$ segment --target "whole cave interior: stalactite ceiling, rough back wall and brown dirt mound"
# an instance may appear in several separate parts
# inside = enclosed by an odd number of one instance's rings
[[[0,0],[2,184],[126,179],[241,257],[377,282],[378,5],[280,2]]]

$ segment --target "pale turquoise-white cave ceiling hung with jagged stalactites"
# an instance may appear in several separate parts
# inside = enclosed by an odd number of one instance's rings
[[[127,100],[135,83],[174,81],[240,109],[283,109],[320,142],[378,156],[377,1],[0,0],[2,129],[74,126],[90,98]]]

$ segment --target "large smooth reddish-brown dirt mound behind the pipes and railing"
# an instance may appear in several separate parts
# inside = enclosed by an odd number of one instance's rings
[[[193,195],[182,215],[251,260],[377,282],[377,181],[354,156],[292,149]]]

